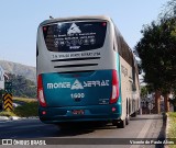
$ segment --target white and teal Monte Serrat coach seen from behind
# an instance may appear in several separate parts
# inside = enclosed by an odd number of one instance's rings
[[[38,116],[124,128],[140,109],[138,64],[109,16],[42,22],[36,38]]]

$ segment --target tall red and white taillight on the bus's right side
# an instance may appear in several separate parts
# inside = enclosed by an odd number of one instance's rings
[[[119,98],[119,81],[117,70],[112,70],[112,94],[110,99],[110,103],[117,103]]]

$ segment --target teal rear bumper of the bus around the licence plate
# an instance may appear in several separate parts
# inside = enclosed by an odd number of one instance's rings
[[[116,111],[112,112],[112,107]],[[73,110],[84,110],[84,115],[74,115]],[[46,114],[43,115],[42,112]],[[38,109],[40,119],[43,123],[57,124],[64,122],[86,122],[86,121],[107,121],[120,119],[121,105],[91,105],[91,106],[66,106],[66,107],[41,107]]]

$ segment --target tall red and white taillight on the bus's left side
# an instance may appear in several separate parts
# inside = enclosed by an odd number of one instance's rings
[[[37,99],[40,101],[41,106],[46,106],[46,102],[43,93],[42,75],[38,75],[37,77]]]

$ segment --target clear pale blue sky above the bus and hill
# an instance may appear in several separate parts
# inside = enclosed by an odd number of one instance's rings
[[[157,20],[168,0],[1,0],[0,60],[36,64],[36,30],[53,18],[109,15],[133,48],[143,25]]]

